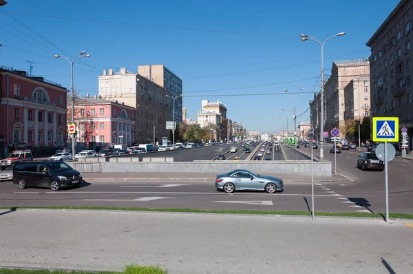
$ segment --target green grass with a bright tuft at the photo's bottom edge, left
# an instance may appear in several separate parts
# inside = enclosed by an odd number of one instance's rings
[[[19,269],[19,268],[0,268],[1,274],[166,274],[167,271],[160,266],[139,266],[131,264],[125,266],[122,272],[105,272],[105,271],[50,271],[47,269]]]

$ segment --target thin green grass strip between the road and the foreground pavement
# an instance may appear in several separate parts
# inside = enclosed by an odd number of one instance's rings
[[[0,209],[84,209],[84,210],[118,210],[118,211],[156,211],[156,212],[187,212],[187,213],[222,213],[222,214],[251,214],[251,215],[304,215],[310,216],[309,211],[264,211],[264,210],[238,210],[238,209],[154,209],[149,207],[72,207],[72,206],[52,206],[52,207],[0,207]],[[384,218],[384,213],[363,213],[363,212],[316,212],[316,216],[330,217],[363,217],[363,218]],[[389,218],[413,219],[413,214],[390,213]]]

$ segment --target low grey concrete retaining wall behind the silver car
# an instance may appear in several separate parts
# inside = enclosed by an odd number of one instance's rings
[[[310,161],[197,161],[197,162],[131,162],[131,158],[125,161],[100,162],[101,172],[207,172],[226,173],[233,169],[248,169],[255,173],[297,173],[311,175]],[[127,160],[127,161],[126,161]],[[82,165],[87,169],[87,162],[67,162],[76,168]],[[90,165],[94,163],[90,162]],[[315,176],[332,176],[331,162],[314,162]]]

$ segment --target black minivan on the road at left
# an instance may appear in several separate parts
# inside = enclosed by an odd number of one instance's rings
[[[58,191],[63,186],[78,187],[82,176],[63,161],[18,162],[13,169],[13,183],[19,189],[26,187],[50,187]]]

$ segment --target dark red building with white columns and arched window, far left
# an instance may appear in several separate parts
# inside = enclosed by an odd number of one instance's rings
[[[34,156],[66,145],[66,93],[58,83],[0,67],[0,158],[14,148]]]

